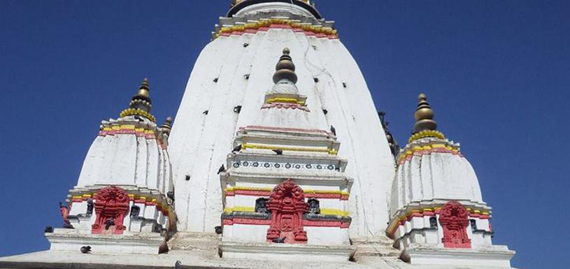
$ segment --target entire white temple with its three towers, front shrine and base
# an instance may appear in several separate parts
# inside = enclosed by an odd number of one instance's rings
[[[175,120],[156,123],[143,80],[101,122],[50,249],[0,268],[511,268],[427,96],[400,147],[313,1],[231,1],[211,38]]]

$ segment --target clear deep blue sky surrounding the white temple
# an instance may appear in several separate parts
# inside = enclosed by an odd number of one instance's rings
[[[418,92],[520,268],[567,268],[570,1],[320,0],[404,143]],[[150,79],[175,115],[217,1],[0,1],[0,256],[48,248],[101,119]],[[565,257],[565,256],[564,256]]]

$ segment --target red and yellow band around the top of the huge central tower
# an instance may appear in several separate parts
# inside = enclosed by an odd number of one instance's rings
[[[256,34],[258,31],[267,31],[273,29],[291,29],[294,32],[304,33],[306,36],[315,36],[318,38],[339,38],[339,33],[331,27],[322,27],[320,25],[301,24],[287,19],[262,19],[259,22],[249,22],[246,24],[236,24],[229,27],[222,27],[215,37]]]

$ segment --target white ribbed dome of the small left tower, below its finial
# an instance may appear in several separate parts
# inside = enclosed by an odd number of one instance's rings
[[[131,185],[166,194],[172,189],[166,143],[156,124],[144,117],[104,121],[87,152],[76,188]]]

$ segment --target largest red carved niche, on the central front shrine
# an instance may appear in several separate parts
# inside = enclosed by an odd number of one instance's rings
[[[285,180],[273,189],[266,206],[271,211],[267,242],[307,242],[307,232],[303,229],[303,214],[308,210],[308,204],[305,203],[301,187],[292,180]]]

